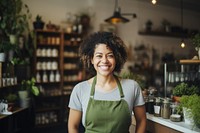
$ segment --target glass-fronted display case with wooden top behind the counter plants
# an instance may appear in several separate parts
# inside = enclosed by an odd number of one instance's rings
[[[200,60],[180,60],[177,63],[164,64],[164,96],[180,82],[199,85]]]

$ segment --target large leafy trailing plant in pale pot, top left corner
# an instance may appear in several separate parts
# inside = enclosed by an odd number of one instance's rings
[[[0,8],[3,10],[0,28],[10,37],[10,42],[16,44],[17,36],[29,30],[29,8],[21,0],[1,0]]]

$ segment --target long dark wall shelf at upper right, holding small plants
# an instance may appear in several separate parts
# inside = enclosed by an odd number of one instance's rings
[[[139,31],[139,35],[174,37],[174,38],[181,38],[181,37],[188,38],[187,34],[173,33],[173,32],[161,32],[161,31]]]

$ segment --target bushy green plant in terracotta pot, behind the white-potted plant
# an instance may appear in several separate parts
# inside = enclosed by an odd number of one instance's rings
[[[189,86],[185,82],[177,84],[172,90],[173,99],[176,102],[180,102],[180,98],[183,95],[189,96],[189,95],[193,95],[193,94],[199,94],[199,88],[194,85]]]

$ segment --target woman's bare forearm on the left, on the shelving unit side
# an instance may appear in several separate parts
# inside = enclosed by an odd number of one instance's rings
[[[68,133],[78,133],[82,112],[74,109],[69,111]]]

